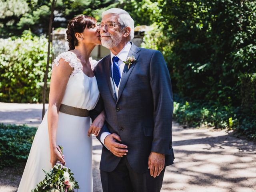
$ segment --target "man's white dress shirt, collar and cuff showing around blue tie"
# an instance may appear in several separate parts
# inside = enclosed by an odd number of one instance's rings
[[[131,47],[132,47],[132,44],[130,42],[128,42],[128,43],[126,43],[124,48],[117,55],[114,55],[112,53],[112,51],[110,52],[112,77],[113,77],[113,57],[116,56],[116,57],[119,58],[117,64],[118,64],[118,69],[119,69],[121,78],[120,78],[120,82],[118,84],[118,87],[116,86],[116,84],[114,83],[114,80],[112,78],[112,84],[114,84],[114,92],[116,94],[116,98],[118,98],[118,91],[119,91],[120,83],[121,83],[121,80],[122,80],[122,74],[123,74],[123,71],[124,71],[124,66],[125,66],[124,61],[126,61],[126,58],[128,57],[128,54],[129,54],[129,51],[130,51]],[[100,141],[104,145],[105,145],[104,140],[105,140],[106,136],[108,136],[109,134],[110,134],[109,132],[103,132],[100,136]]]

